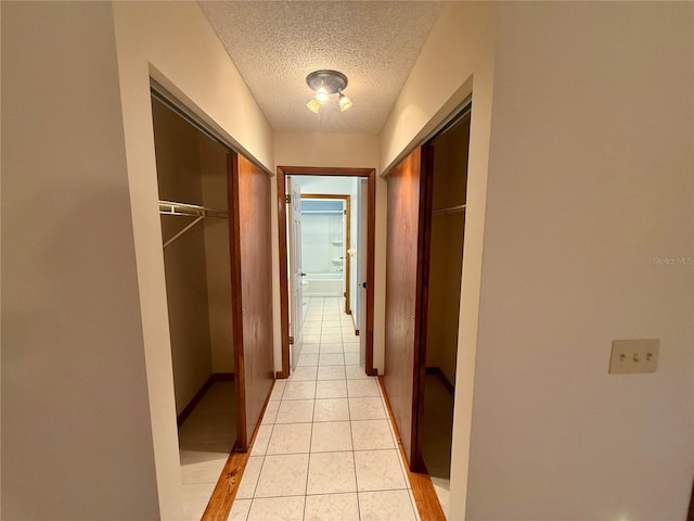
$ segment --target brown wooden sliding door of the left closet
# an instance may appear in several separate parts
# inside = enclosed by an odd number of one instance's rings
[[[270,176],[242,155],[228,157],[239,393],[236,449],[246,450],[274,380]]]

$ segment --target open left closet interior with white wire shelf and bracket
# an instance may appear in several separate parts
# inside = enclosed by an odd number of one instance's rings
[[[183,506],[207,507],[243,414],[234,352],[229,161],[153,91],[152,115]]]

